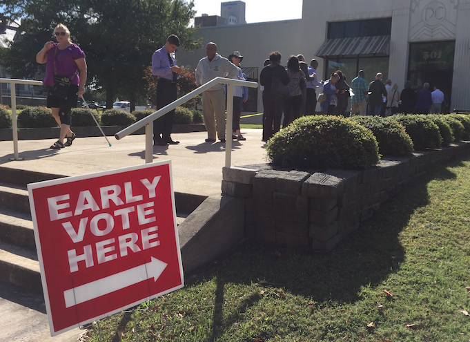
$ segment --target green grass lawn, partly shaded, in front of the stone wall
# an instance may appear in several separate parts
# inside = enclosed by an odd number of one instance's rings
[[[469,203],[464,160],[415,180],[331,253],[239,245],[140,305],[139,341],[468,342]],[[131,314],[100,327],[102,341],[135,341]]]

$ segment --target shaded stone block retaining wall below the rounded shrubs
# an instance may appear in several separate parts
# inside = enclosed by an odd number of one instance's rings
[[[247,240],[330,251],[411,180],[469,153],[470,142],[460,142],[409,158],[382,158],[362,171],[225,167],[222,193],[244,198]]]

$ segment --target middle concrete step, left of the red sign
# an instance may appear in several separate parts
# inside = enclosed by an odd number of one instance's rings
[[[0,207],[0,241],[36,251],[31,214]]]

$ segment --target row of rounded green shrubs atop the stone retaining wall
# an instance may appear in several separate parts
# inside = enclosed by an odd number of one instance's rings
[[[297,169],[367,169],[380,155],[411,155],[470,137],[470,115],[301,117],[268,141],[275,165]]]

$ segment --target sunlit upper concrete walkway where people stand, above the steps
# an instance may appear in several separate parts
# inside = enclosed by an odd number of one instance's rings
[[[243,129],[246,141],[232,143],[232,166],[266,162],[261,129]],[[206,132],[173,133],[180,144],[154,146],[154,162],[171,160],[176,192],[210,196],[220,193],[225,144],[204,142]],[[21,140],[19,157],[11,161],[13,142],[0,141],[0,166],[59,175],[82,175],[145,163],[145,135],[128,135],[122,140],[108,137],[77,137],[65,149],[48,149],[56,139]],[[1,181],[1,180],[0,180]]]

